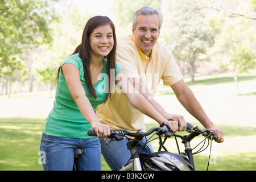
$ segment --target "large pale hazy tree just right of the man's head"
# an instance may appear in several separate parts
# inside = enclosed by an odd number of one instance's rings
[[[187,69],[191,81],[195,81],[196,67],[207,60],[207,50],[214,43],[209,13],[178,1],[167,1],[164,7],[164,34],[161,32],[160,36],[183,72]]]

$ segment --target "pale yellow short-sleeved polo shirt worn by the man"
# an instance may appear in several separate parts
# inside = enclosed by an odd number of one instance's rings
[[[170,86],[183,78],[172,53],[160,42],[155,43],[150,57],[147,57],[135,44],[134,36],[122,36],[117,42],[116,61],[128,78],[139,78],[153,97],[161,79],[164,85]],[[143,113],[133,107],[118,89],[112,93],[112,100],[99,105],[96,111],[101,122],[110,129],[145,130]]]

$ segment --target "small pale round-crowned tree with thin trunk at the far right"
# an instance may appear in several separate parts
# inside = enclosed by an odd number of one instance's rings
[[[250,19],[236,18],[221,24],[223,31],[216,38],[210,54],[221,68],[228,68],[234,73],[234,82],[238,87],[238,75],[247,72],[256,65],[255,22]]]

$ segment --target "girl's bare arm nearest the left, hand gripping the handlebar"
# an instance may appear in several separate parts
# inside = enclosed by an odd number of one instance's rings
[[[98,137],[108,137],[108,135],[110,135],[109,126],[102,124],[94,113],[93,107],[86,97],[84,88],[82,87],[77,67],[71,63],[65,63],[62,66],[62,70],[69,92],[76,102],[81,114],[92,125],[92,129],[95,130]]]

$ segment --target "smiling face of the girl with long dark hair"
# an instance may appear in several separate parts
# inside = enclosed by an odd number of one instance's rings
[[[103,59],[114,46],[113,30],[109,24],[95,28],[90,35],[90,47],[92,48],[92,58]]]

